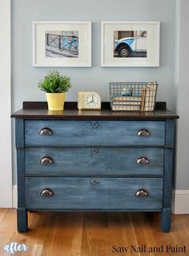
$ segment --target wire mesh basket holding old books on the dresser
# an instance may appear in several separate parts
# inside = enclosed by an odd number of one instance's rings
[[[157,82],[111,82],[110,97],[113,111],[153,111]]]

